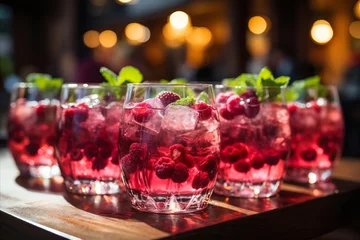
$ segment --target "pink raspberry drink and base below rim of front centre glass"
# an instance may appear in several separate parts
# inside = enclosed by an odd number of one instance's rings
[[[150,119],[141,121],[132,110],[125,110],[119,149],[133,206],[167,213],[205,208],[218,172],[217,112],[211,108],[202,120],[196,110],[181,106],[171,118],[168,107],[152,109]],[[189,121],[182,121],[187,111]]]

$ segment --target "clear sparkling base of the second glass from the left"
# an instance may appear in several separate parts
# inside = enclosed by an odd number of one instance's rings
[[[69,180],[65,181],[66,189],[75,194],[81,195],[105,195],[120,192],[121,184],[119,180],[100,181],[100,180]]]

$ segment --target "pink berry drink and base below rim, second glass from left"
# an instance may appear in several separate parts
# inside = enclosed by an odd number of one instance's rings
[[[68,190],[83,194],[118,191],[121,109],[120,103],[107,107],[80,103],[62,109],[57,146]]]

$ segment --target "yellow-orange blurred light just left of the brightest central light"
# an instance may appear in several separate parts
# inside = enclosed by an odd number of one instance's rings
[[[130,44],[139,45],[150,39],[150,30],[139,23],[130,23],[125,27],[125,36]]]

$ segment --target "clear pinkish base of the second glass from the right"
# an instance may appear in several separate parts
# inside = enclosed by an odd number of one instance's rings
[[[227,197],[266,198],[274,196],[280,190],[280,184],[280,179],[260,183],[227,182],[218,179],[214,191]]]

